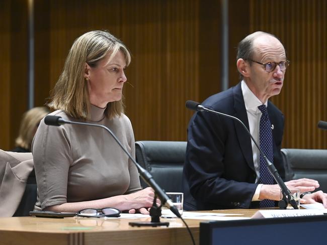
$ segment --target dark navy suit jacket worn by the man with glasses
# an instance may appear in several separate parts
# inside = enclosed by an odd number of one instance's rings
[[[240,83],[210,96],[202,104],[239,118],[249,129]],[[267,109],[274,125],[274,165],[284,178],[280,152],[284,116],[270,101]],[[258,186],[255,181],[251,138],[245,129],[233,119],[205,111],[196,112],[188,127],[183,172],[184,208],[210,210],[258,207],[259,202],[252,202]]]

